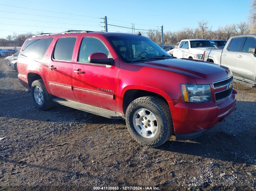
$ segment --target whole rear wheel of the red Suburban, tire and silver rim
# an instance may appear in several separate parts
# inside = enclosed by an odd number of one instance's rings
[[[35,80],[32,82],[31,93],[35,105],[40,110],[48,110],[53,107],[52,97],[48,94],[43,80]]]

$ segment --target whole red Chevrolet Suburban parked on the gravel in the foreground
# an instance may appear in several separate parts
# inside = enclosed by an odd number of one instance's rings
[[[140,34],[37,35],[23,44],[18,72],[39,109],[55,102],[124,118],[133,138],[149,147],[171,135],[198,137],[233,111],[237,97],[227,67],[176,59]]]

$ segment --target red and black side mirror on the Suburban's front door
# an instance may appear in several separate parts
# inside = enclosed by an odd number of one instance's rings
[[[88,57],[88,61],[93,64],[105,64],[107,68],[114,64],[114,59],[108,58],[104,53],[91,53]]]

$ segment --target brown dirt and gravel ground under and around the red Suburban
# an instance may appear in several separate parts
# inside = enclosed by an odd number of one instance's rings
[[[146,148],[123,120],[62,105],[39,111],[0,59],[0,190],[255,190],[256,88],[234,88],[237,110],[225,122],[191,141]]]

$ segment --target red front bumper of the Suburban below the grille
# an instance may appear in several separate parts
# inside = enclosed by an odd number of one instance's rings
[[[200,136],[227,117],[236,105],[237,92],[221,103],[177,103],[171,108],[176,140]]]

